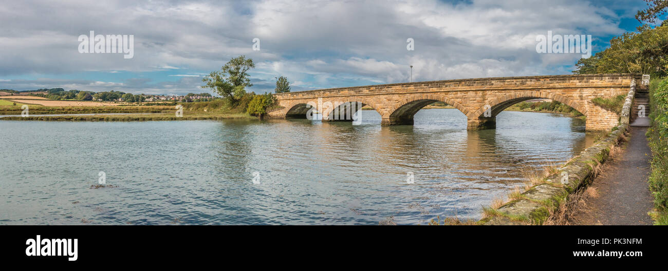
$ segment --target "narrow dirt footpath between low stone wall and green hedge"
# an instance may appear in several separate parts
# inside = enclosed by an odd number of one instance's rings
[[[647,146],[647,127],[631,127],[625,150],[603,170],[589,189],[578,224],[651,225],[647,212],[653,209],[653,197],[647,188],[651,171],[651,150]]]

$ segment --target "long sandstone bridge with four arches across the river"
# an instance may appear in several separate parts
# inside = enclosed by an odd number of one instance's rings
[[[586,115],[587,130],[603,130],[617,126],[619,115],[595,105],[591,99],[626,95],[633,79],[640,80],[641,75],[492,77],[297,91],[277,94],[280,107],[268,115],[307,118],[310,107],[315,106],[323,121],[351,121],[342,107],[359,102],[380,113],[381,125],[402,125],[412,124],[413,115],[422,107],[443,101],[466,115],[467,129],[494,129],[496,115],[510,105],[542,98],[560,101]],[[348,113],[354,114],[357,109],[348,109]]]

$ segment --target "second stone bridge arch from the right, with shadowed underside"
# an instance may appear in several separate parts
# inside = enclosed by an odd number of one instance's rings
[[[417,94],[411,95],[401,101],[397,101],[392,107],[390,107],[387,112],[389,115],[383,117],[383,124],[385,125],[394,125],[394,124],[413,124],[413,116],[415,113],[418,113],[422,107],[430,105],[436,101],[442,101],[448,103],[448,105],[454,106],[456,109],[468,115],[469,111],[461,103],[454,99],[450,99],[445,95],[439,94]]]

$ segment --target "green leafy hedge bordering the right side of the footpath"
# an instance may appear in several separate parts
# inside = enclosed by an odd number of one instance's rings
[[[657,211],[652,217],[656,224],[668,225],[668,79],[651,81],[649,106],[652,126],[647,129],[647,140],[653,157],[648,184]]]

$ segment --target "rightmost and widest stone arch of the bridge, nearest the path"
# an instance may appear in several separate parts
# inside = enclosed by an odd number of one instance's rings
[[[565,97],[557,93],[551,93],[547,91],[519,91],[514,93],[508,93],[500,97],[496,97],[488,103],[482,105],[476,111],[471,111],[466,115],[468,117],[468,128],[467,129],[488,129],[496,127],[496,115],[504,111],[504,109],[519,103],[521,101],[526,101],[529,99],[552,99],[553,101],[558,101],[564,103],[582,115],[587,116],[587,107],[577,103],[576,101]],[[484,115],[485,111],[490,109],[490,114],[487,116]]]

